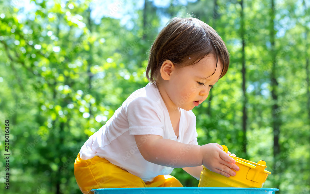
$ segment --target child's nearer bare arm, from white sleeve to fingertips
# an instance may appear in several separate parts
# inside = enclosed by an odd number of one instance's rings
[[[148,162],[174,168],[206,166],[209,170],[229,177],[239,170],[235,160],[216,143],[191,145],[163,139],[158,135],[135,135],[141,155]]]

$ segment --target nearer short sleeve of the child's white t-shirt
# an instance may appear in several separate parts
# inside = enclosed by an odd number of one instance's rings
[[[126,116],[130,135],[163,136],[163,115],[160,106],[146,97],[138,97],[129,102]]]

